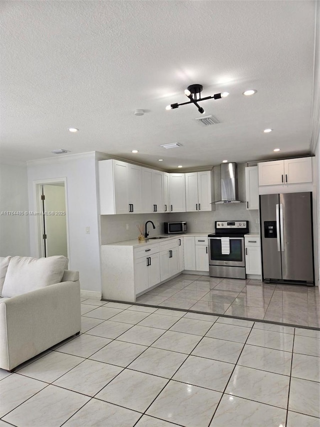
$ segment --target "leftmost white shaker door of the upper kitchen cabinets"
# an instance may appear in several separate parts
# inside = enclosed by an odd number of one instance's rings
[[[125,214],[130,211],[128,201],[129,165],[112,160],[114,180],[114,213]]]

